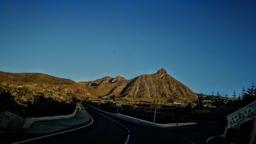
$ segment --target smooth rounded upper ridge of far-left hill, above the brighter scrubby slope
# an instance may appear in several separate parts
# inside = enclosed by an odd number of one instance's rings
[[[74,81],[69,79],[62,79],[53,77],[46,74],[40,73],[6,73],[0,71],[0,82],[25,82],[25,83],[40,83],[40,84],[53,84],[53,85],[63,85],[63,84],[75,84]]]

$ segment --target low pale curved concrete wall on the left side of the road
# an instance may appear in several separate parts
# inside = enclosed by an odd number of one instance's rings
[[[38,121],[50,121],[54,119],[61,119],[61,118],[70,118],[76,115],[76,109],[72,114],[68,115],[57,115],[57,116],[45,116],[45,117],[29,117],[25,119],[25,123],[23,125],[23,129],[30,127],[34,122]]]

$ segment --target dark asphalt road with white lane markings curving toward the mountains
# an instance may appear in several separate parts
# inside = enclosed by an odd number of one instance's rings
[[[224,126],[204,123],[179,128],[157,128],[125,121],[83,104],[94,122],[85,128],[26,143],[205,143]]]

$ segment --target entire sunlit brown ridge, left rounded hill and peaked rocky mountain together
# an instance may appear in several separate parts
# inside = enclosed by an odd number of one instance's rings
[[[6,85],[24,89],[27,98],[32,98],[37,92],[49,97],[56,97],[56,99],[60,98],[63,101],[70,98],[70,93],[80,95],[81,99],[89,95],[96,98],[116,95],[132,103],[156,101],[186,104],[197,99],[197,95],[193,91],[170,76],[164,68],[155,74],[141,75],[131,80],[117,76],[116,78],[103,77],[95,81],[78,83],[46,74],[14,74],[0,71],[0,86]]]

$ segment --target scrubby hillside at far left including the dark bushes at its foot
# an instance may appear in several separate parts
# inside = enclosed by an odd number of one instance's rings
[[[85,87],[69,79],[38,73],[0,72],[0,111],[8,110],[21,116],[63,114],[73,111],[78,101],[90,96]]]

